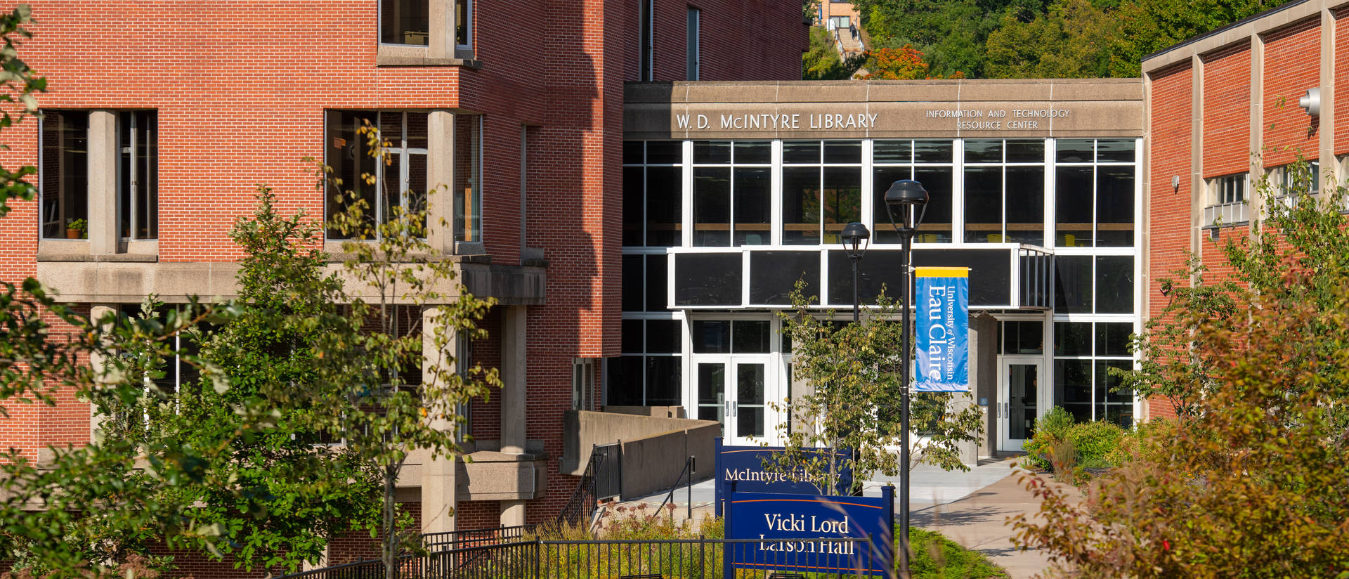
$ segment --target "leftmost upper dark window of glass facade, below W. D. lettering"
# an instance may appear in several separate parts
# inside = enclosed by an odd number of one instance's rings
[[[683,243],[684,143],[623,143],[623,246]]]

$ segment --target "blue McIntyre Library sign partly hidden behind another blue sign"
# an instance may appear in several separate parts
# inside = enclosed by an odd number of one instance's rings
[[[774,472],[764,468],[764,462],[772,463],[773,455],[784,452],[782,447],[723,447],[722,439],[716,439],[715,460],[715,505],[716,516],[722,516],[726,486],[737,483],[737,489],[750,493],[782,493],[782,494],[820,494],[828,490],[828,480],[812,480],[804,471]],[[809,458],[820,460],[830,459],[828,448],[801,448]],[[853,489],[853,468],[846,460],[851,458],[849,451],[835,451],[838,456],[838,485],[835,493],[847,494]]]

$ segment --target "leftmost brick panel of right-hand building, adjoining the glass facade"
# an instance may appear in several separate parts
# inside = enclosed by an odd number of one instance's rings
[[[1190,247],[1191,200],[1197,194],[1190,180],[1190,119],[1193,111],[1190,65],[1152,74],[1148,192],[1148,286],[1145,314],[1157,316],[1167,305],[1160,293],[1161,279],[1184,266],[1183,251]],[[1180,177],[1179,189],[1171,178]],[[1170,402],[1148,401],[1148,416],[1174,414]]]

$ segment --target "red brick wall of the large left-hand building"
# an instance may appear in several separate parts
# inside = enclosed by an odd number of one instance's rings
[[[378,3],[36,1],[23,58],[50,80],[46,108],[154,108],[159,119],[159,262],[239,258],[227,232],[255,184],[279,209],[322,215],[304,157],[322,155],[325,109],[447,108],[484,116],[483,239],[519,262],[521,127],[529,128],[523,231],[549,260],[546,304],[527,316],[529,421],[550,462],[552,517],[575,486],[558,475],[571,364],[619,350],[622,86],[635,78],[631,0],[478,0],[482,69],[378,67]],[[684,78],[688,3],[657,1],[657,78]],[[796,0],[707,0],[704,80],[796,80],[807,28]],[[36,123],[0,135],[0,163],[36,162]],[[0,279],[35,273],[35,202],[0,220]],[[499,351],[499,346],[498,346]],[[483,410],[487,413],[488,410]],[[82,417],[81,417],[82,416]],[[47,428],[45,420],[58,424]],[[43,425],[39,431],[39,425]],[[16,409],[0,445],[81,440],[88,408]]]

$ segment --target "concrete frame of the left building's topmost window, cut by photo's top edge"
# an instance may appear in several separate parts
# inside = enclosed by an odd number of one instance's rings
[[[429,30],[426,45],[380,42],[376,16],[376,66],[467,66],[482,67],[476,58],[473,0],[426,0]],[[463,12],[463,15],[460,15]],[[461,22],[463,20],[463,22]],[[460,39],[464,42],[460,43]]]

